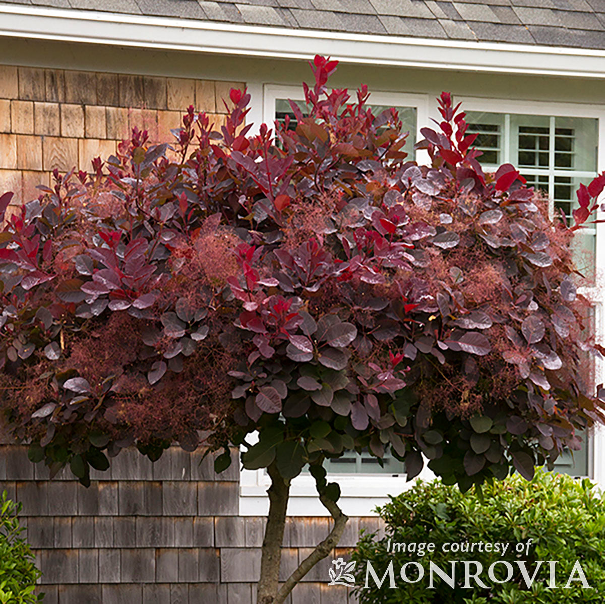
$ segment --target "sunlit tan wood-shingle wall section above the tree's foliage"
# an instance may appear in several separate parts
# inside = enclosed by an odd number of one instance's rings
[[[54,169],[91,171],[91,160],[115,154],[133,126],[152,141],[172,140],[189,105],[221,125],[221,99],[243,85],[0,65],[0,191],[15,192],[13,205],[35,199]]]

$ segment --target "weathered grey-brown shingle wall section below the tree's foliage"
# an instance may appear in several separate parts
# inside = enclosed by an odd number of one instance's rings
[[[42,570],[45,604],[253,604],[263,517],[238,516],[237,449],[224,473],[214,458],[171,447],[155,463],[134,448],[82,487],[70,471],[52,481],[27,447],[0,446],[0,493],[21,502],[22,525]],[[329,533],[325,517],[287,519],[282,577]],[[353,518],[333,557],[344,556],[376,517]],[[294,589],[289,604],[347,604],[328,587],[332,556]]]

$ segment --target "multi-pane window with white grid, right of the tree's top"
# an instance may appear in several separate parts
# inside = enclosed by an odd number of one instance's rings
[[[517,166],[528,185],[551,200],[554,214],[571,218],[575,192],[597,174],[598,120],[587,117],[532,116],[468,111],[469,132],[478,133],[479,161],[487,170],[502,163]],[[575,261],[587,278],[594,278],[595,229],[575,238]]]

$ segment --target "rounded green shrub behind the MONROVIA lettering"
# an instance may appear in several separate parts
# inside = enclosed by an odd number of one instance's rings
[[[531,482],[515,475],[504,482],[485,485],[483,494],[475,491],[460,493],[455,486],[445,486],[439,481],[418,482],[409,491],[379,509],[387,524],[386,536],[376,539],[376,534],[362,534],[356,560],[356,585],[362,604],[393,604],[395,602],[448,604],[518,604],[532,602],[605,602],[605,507],[601,493],[587,479],[577,481],[569,476],[538,472]],[[391,553],[387,553],[388,539]],[[533,539],[527,550],[517,553],[517,543]],[[456,554],[442,551],[444,543],[510,543],[504,556],[485,551]],[[419,555],[416,552],[396,551],[393,543],[434,543],[434,552]],[[451,547],[451,546],[450,546]],[[471,546],[472,547],[472,546]],[[478,548],[479,546],[477,546]],[[485,545],[483,546],[485,547]],[[403,548],[403,546],[402,546]],[[511,551],[512,550],[512,551]],[[378,588],[374,580],[365,585],[369,560],[379,579],[393,560],[395,585],[390,588],[387,576]],[[451,576],[451,562],[455,565],[455,583],[452,588],[437,574],[434,589],[430,585],[430,562]],[[474,589],[464,588],[463,560],[476,560],[483,566],[480,579],[488,586],[484,589],[473,579]],[[488,568],[492,562],[502,560],[511,563],[513,575],[508,582],[495,583],[489,579]],[[539,560],[535,581],[528,588],[518,562],[525,560],[525,568],[532,577]],[[557,589],[548,588],[549,560],[557,560],[555,577]],[[580,580],[564,589],[576,560],[579,560],[587,583],[592,589],[584,589]],[[401,567],[407,562],[419,562],[425,574],[417,583],[407,583],[400,576]],[[474,565],[471,566],[474,570]],[[418,577],[415,565],[408,567],[408,577]],[[506,579],[505,565],[494,567],[497,579]],[[574,578],[580,575],[574,573]]]

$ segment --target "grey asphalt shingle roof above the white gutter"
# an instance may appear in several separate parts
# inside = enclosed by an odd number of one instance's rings
[[[348,33],[605,49],[605,0],[1,0]]]

